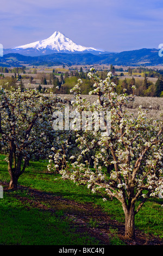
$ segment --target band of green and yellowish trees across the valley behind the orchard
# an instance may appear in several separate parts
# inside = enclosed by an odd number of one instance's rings
[[[15,75],[10,78],[4,78],[3,74],[1,75],[0,85],[7,87],[8,89],[11,86],[16,86],[17,78],[21,80],[22,77],[19,75],[19,72],[22,72],[23,74],[26,73],[25,66],[22,68],[12,69],[0,67],[0,72],[4,72],[4,70],[8,70],[8,72],[15,74],[18,73],[17,76]],[[42,85],[46,86],[46,84],[52,84],[52,88],[49,89],[51,92],[59,94],[70,94],[70,90],[76,85],[79,78],[83,80],[81,85],[82,94],[89,94],[89,92],[93,90],[93,81],[87,77],[87,72],[84,72],[82,67],[80,70],[76,69],[65,73],[60,72],[61,74],[55,74],[54,71],[55,70],[49,74],[37,74],[40,76],[40,86],[37,88],[40,92],[45,92],[45,87],[42,89]],[[126,89],[127,94],[133,93],[131,87],[135,86],[136,90],[134,94],[136,96],[163,97],[163,70],[153,70],[144,67],[138,67],[133,69],[128,68],[124,71],[123,68],[115,69],[115,67],[111,65],[109,70],[97,71],[97,75],[100,79],[104,80],[109,71],[111,71],[113,74],[111,82],[114,82],[117,85],[116,93],[118,95],[123,93],[123,89]],[[120,77],[116,75],[116,71],[121,72]],[[124,72],[128,72],[128,75],[130,75],[132,78],[123,78],[122,76],[124,76]],[[140,79],[140,77],[135,77],[134,74],[140,74],[143,79]],[[149,77],[155,77],[158,78],[158,80],[153,83],[148,80]],[[30,77],[29,80],[30,83],[33,83],[33,77]],[[5,83],[7,82],[8,85],[5,86]],[[23,87],[22,80],[20,81],[20,84]]]

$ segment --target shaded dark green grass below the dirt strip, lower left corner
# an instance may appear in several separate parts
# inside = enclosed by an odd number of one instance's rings
[[[0,245],[98,245],[90,235],[70,227],[60,212],[28,210],[14,193],[5,194],[0,205]]]

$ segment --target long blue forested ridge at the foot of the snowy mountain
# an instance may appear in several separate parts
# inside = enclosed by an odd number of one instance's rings
[[[163,64],[163,57],[159,57],[159,50],[143,48],[140,50],[124,51],[120,53],[92,54],[91,52],[53,53],[44,56],[24,56],[9,53],[0,57],[0,66],[21,65],[93,65],[112,64],[123,66],[158,66]]]

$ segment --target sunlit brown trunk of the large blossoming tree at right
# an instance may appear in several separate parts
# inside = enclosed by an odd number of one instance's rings
[[[135,239],[135,205],[131,205],[125,212],[125,236],[128,239]]]

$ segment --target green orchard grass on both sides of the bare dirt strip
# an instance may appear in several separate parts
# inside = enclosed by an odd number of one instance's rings
[[[7,170],[7,163],[3,161],[4,156],[0,156],[0,180],[9,182],[9,174]],[[20,179],[18,180],[18,185],[27,186],[30,188],[35,188],[36,190],[40,190],[43,192],[50,192],[57,196],[62,196],[64,198],[75,200],[79,203],[93,203],[99,205],[103,211],[107,212],[108,215],[117,221],[124,222],[124,214],[122,210],[121,203],[118,200],[113,199],[112,201],[108,200],[103,202],[102,197],[98,194],[92,194],[90,190],[88,190],[85,186],[77,186],[70,180],[62,180],[60,175],[54,175],[53,173],[47,172],[47,161],[39,161],[39,162],[30,162],[29,167],[27,167],[26,171]],[[21,192],[22,193],[22,192]],[[24,192],[26,193],[26,192]],[[23,194],[22,194],[23,196]],[[27,197],[26,194],[24,196]],[[154,234],[159,237],[162,236],[162,208],[161,204],[163,204],[161,199],[151,199],[149,200],[143,208],[139,211],[139,213],[135,216],[135,226],[140,230],[145,231],[147,234]],[[14,234],[14,238],[12,237],[10,241],[10,235],[7,235],[6,239],[1,237],[0,244],[8,244],[9,241],[12,244],[35,244],[40,245],[42,242],[46,245],[96,245],[98,243],[95,239],[90,238],[85,234],[79,235],[78,232],[74,231],[74,234],[77,235],[76,238],[73,238],[71,235],[73,234],[72,230],[68,231],[68,221],[61,221],[61,216],[64,214],[61,210],[58,212],[57,216],[51,216],[47,212],[41,212],[39,209],[25,209],[21,203],[14,198],[14,193],[5,194],[4,199],[0,199],[0,206],[2,211],[2,216],[0,220],[0,229],[3,228],[2,233],[8,234],[12,231],[12,236]],[[7,212],[8,214],[4,214]],[[23,214],[22,214],[23,213]],[[37,217],[36,217],[37,216]],[[13,220],[12,220],[13,218]],[[36,219],[36,222],[34,221]],[[14,222],[16,220],[16,222]],[[20,222],[20,225],[18,224]],[[16,224],[14,224],[16,223]],[[22,223],[22,224],[21,224]],[[37,223],[37,224],[36,224]],[[42,223],[42,224],[41,224]],[[92,225],[97,223],[92,222]],[[52,228],[51,228],[52,225]],[[67,229],[66,226],[67,225]],[[13,228],[14,227],[14,228]],[[21,228],[22,227],[22,228]],[[38,227],[41,227],[40,235],[38,235],[39,231]],[[58,228],[56,228],[58,227]],[[20,229],[21,230],[18,230]],[[23,228],[27,230],[27,236],[32,232],[37,234],[37,237],[27,237],[24,235],[20,235],[20,239],[18,239],[17,235],[23,232]],[[71,227],[72,228],[72,227]],[[9,231],[10,230],[10,231]],[[43,240],[42,237],[46,235],[41,235],[42,232],[48,234],[50,236],[48,240]],[[61,234],[60,237],[57,236],[57,231]],[[62,231],[66,230],[63,236]],[[56,231],[56,232],[55,232]],[[70,232],[70,233],[68,233]],[[1,233],[1,234],[2,234]],[[51,236],[52,234],[52,236]],[[57,236],[56,240],[54,237]],[[74,235],[75,236],[75,235]],[[22,238],[23,237],[23,238]],[[40,237],[40,238],[39,238]],[[83,237],[83,238],[82,238]],[[90,237],[90,236],[89,236]],[[18,239],[18,241],[17,241]],[[64,240],[65,239],[65,240]],[[82,240],[83,239],[83,240]],[[54,241],[55,240],[55,241]],[[69,243],[68,243],[69,242]],[[114,244],[116,242],[114,241]],[[117,241],[118,243],[118,241]]]

